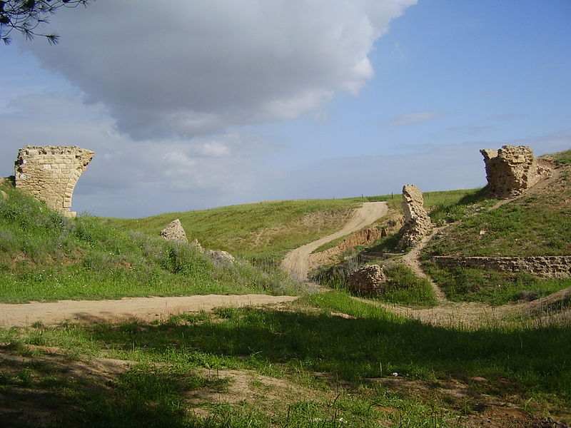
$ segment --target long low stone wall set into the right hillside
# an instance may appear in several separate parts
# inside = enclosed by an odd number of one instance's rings
[[[443,267],[474,267],[501,272],[527,272],[545,278],[571,277],[571,255],[533,257],[435,256],[433,260]]]

